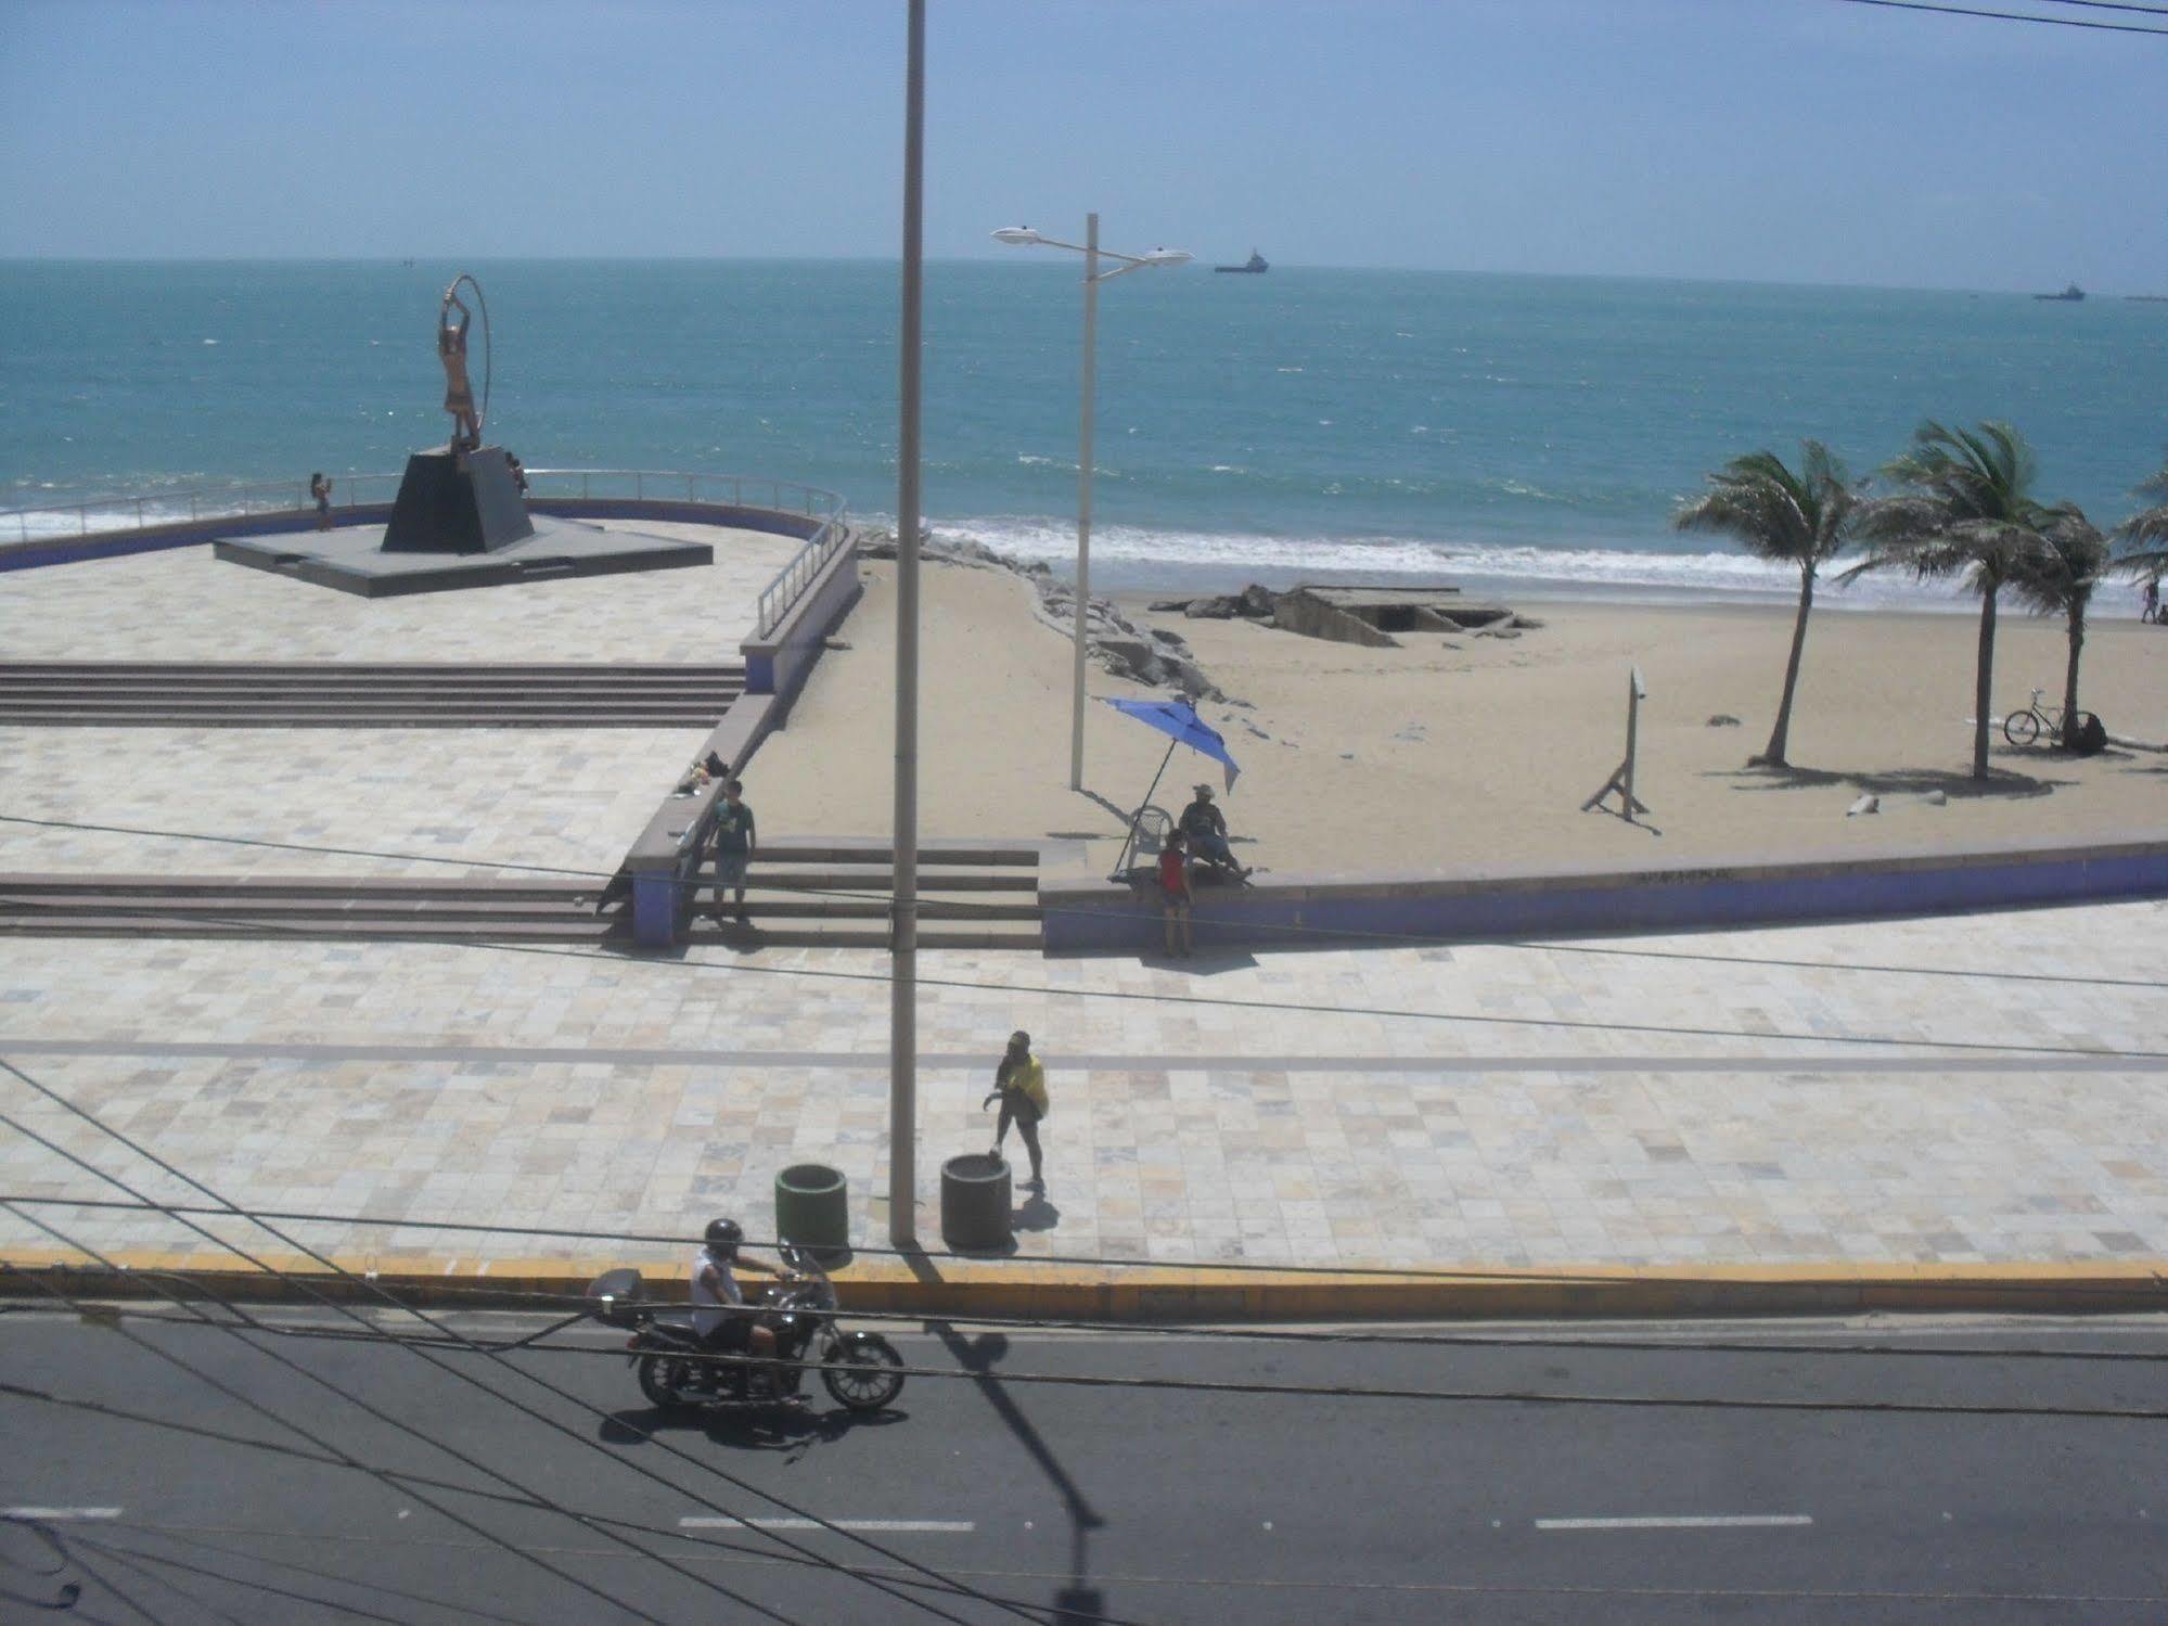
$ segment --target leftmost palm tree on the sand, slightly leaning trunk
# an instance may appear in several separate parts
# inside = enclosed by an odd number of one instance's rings
[[[1858,507],[1860,494],[1845,466],[1819,440],[1802,440],[1797,475],[1773,451],[1750,451],[1724,464],[1708,477],[1708,490],[1672,516],[1680,531],[1721,531],[1756,559],[1799,568],[1799,618],[1791,627],[1784,698],[1776,705],[1769,746],[1752,763],[1786,765],[1784,741],[1806,653],[1806,616],[1815,607],[1815,572],[1851,546]]]

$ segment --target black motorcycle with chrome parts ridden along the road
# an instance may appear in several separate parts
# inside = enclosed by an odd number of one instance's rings
[[[607,1270],[588,1283],[592,1316],[633,1335],[624,1348],[648,1405],[676,1411],[698,1405],[763,1407],[793,1403],[806,1366],[837,1405],[880,1411],[904,1392],[902,1364],[880,1333],[846,1333],[835,1325],[835,1283],[813,1255],[785,1242],[785,1275],[754,1301],[759,1325],[776,1335],[776,1359],[711,1351],[694,1331],[692,1309],[642,1296],[637,1270]],[[772,1385],[770,1385],[772,1372]]]

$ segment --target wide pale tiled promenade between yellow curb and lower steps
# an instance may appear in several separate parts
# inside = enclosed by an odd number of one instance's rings
[[[1253,1262],[2168,1255],[2168,904],[1197,960],[921,956],[921,1236],[1002,1036],[1049,1058],[1025,1253]],[[885,1240],[887,960],[0,941],[0,1058],[262,1208],[692,1234],[850,1177]],[[22,1119],[184,1197],[0,1075]],[[0,1188],[113,1195],[20,1136]],[[165,1221],[50,1210],[98,1244]],[[4,1240],[35,1238],[0,1218]],[[609,1242],[310,1227],[349,1257]]]

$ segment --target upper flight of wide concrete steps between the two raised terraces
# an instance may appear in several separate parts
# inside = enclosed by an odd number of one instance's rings
[[[709,728],[746,689],[715,666],[0,663],[0,726]]]

